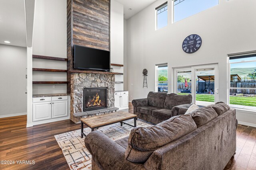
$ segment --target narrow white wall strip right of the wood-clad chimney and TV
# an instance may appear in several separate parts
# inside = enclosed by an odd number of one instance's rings
[[[111,0],[110,11],[110,54],[111,63],[124,64],[124,6]],[[124,72],[124,67],[112,66],[114,72]],[[123,82],[123,75],[116,75],[116,81]],[[124,90],[124,84],[115,84],[115,90]]]

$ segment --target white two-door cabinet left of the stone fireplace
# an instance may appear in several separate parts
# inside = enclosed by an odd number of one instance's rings
[[[68,116],[68,96],[33,98],[34,121]]]

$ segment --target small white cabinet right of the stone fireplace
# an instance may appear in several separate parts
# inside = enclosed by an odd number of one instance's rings
[[[128,109],[129,97],[128,91],[124,92],[115,92],[115,107],[118,107],[120,110]]]

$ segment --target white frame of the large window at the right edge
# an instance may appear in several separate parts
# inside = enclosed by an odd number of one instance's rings
[[[230,62],[230,58],[232,57],[243,57],[246,58],[245,56],[248,55],[256,55],[256,51],[251,51],[251,52],[247,52],[247,53],[237,53],[237,54],[230,54],[227,55],[227,63],[228,63],[228,91],[227,91],[227,95],[228,95],[228,105],[230,106],[230,89],[243,89],[243,90],[256,90],[256,88],[242,88],[242,87],[230,87],[230,82],[231,82],[231,64],[236,64],[236,63],[251,63],[251,62],[256,62],[256,60],[250,60],[250,61],[240,61],[240,62]],[[238,105],[238,106],[246,106],[246,105]],[[230,106],[232,107],[232,106]],[[254,106],[255,107],[255,106]],[[237,110],[240,110],[242,112],[245,113],[253,113],[256,114],[256,110],[254,109],[247,109],[247,108],[239,108],[239,107],[233,107]]]

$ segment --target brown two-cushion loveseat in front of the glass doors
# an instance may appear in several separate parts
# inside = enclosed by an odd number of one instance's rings
[[[190,107],[191,102],[191,94],[149,92],[147,98],[132,100],[132,105],[133,113],[137,115],[137,118],[157,124],[179,115],[180,108]]]

